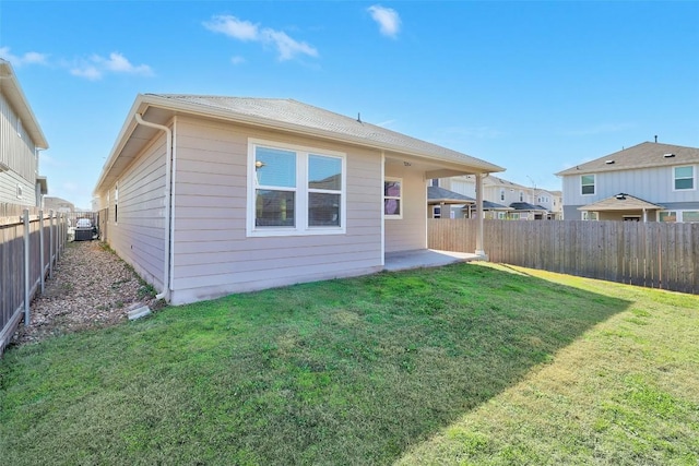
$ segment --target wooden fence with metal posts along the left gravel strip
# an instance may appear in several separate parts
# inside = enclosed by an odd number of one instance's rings
[[[66,238],[62,214],[24,208],[21,216],[0,217],[0,355],[20,321],[28,325],[29,303],[44,291]]]

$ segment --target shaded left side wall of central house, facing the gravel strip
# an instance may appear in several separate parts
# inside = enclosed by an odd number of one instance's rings
[[[164,288],[165,152],[161,131],[119,178],[116,223],[116,184],[109,188],[108,196],[99,193],[102,207],[109,211],[109,246],[158,291]]]

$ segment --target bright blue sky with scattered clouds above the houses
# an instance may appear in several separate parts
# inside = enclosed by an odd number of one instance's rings
[[[699,1],[8,1],[9,60],[88,207],[139,93],[294,98],[560,189],[570,166],[699,146]]]

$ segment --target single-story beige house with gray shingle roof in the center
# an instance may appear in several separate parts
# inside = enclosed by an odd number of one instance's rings
[[[179,304],[381,271],[427,248],[428,179],[501,170],[291,99],[146,94],[95,195],[110,247]]]

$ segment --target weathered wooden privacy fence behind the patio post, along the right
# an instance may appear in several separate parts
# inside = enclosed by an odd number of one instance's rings
[[[428,247],[473,252],[475,219],[428,219]],[[484,220],[491,262],[699,294],[699,224]]]

